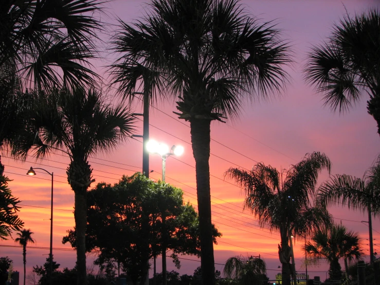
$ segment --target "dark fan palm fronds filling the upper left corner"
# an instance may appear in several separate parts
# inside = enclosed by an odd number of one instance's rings
[[[95,84],[97,0],[0,1],[0,151],[25,120],[32,92]],[[25,92],[26,91],[26,92]],[[0,173],[4,166],[0,163]]]

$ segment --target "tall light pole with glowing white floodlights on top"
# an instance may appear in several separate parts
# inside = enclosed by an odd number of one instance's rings
[[[147,151],[149,153],[155,153],[161,156],[162,158],[162,182],[165,182],[165,171],[166,171],[166,158],[170,155],[181,155],[184,152],[184,148],[182,146],[172,146],[169,150],[169,147],[166,144],[160,144],[155,140],[149,140],[146,144]],[[165,217],[162,217],[162,226],[165,225]],[[154,278],[156,278],[156,256],[154,256],[153,261],[153,274]],[[166,247],[162,246],[162,281],[164,285],[167,284],[166,281]]]

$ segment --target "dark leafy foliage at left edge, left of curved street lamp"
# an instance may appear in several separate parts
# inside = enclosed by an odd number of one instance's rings
[[[6,240],[12,230],[21,230],[24,222],[20,220],[17,211],[21,201],[13,197],[8,188],[8,177],[0,175],[0,239]]]

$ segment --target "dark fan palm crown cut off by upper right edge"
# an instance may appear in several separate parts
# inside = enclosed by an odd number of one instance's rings
[[[367,93],[368,113],[380,134],[380,14],[371,9],[361,15],[345,15],[327,41],[314,46],[305,68],[306,80],[324,94],[326,105],[347,111]]]

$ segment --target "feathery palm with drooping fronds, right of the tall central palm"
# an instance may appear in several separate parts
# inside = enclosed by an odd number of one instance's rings
[[[296,280],[295,268],[290,263],[291,236],[311,235],[316,228],[331,222],[327,210],[312,207],[309,198],[314,193],[319,172],[322,169],[330,172],[330,168],[330,159],[325,154],[313,152],[281,173],[263,163],[256,164],[251,171],[230,168],[225,173],[226,177],[244,188],[244,207],[259,219],[259,225],[279,231],[281,244],[278,245],[278,254],[284,285],[290,285],[291,274]]]

